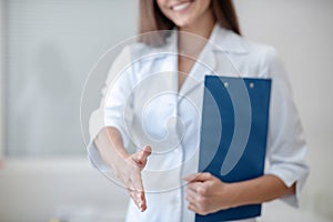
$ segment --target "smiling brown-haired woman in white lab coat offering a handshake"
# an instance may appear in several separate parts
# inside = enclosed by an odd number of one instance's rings
[[[274,49],[240,36],[231,0],[140,3],[141,33],[182,32],[143,36],[143,43],[123,49],[110,70],[122,75],[115,83],[109,78],[105,88],[109,91],[104,91],[101,107],[91,117],[90,133],[94,142],[90,158],[99,168],[111,168],[128,188],[132,202],[127,220],[194,221],[194,213],[205,215],[279,198],[296,205],[307,175],[303,160],[305,142],[287,78]],[[183,93],[181,97],[190,98],[200,108],[202,88],[195,85],[202,85],[208,70],[231,72],[223,70],[225,54],[242,77],[272,78],[273,84],[266,152],[270,168],[260,178],[236,183],[225,183],[210,173],[195,173],[199,118],[186,99],[174,99]],[[128,64],[130,68],[125,69]],[[162,91],[172,93],[157,93]],[[180,121],[172,121],[173,118]],[[164,140],[168,120],[169,139]],[[178,142],[172,144],[173,141]],[[134,154],[125,149],[130,142],[138,149]],[[185,185],[180,182],[182,179]]]

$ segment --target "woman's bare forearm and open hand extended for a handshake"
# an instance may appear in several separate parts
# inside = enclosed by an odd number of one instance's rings
[[[95,147],[103,161],[111,167],[115,176],[128,189],[129,194],[141,211],[147,209],[141,171],[145,167],[151,148],[145,147],[132,155],[123,147],[117,128],[103,128],[94,139]]]

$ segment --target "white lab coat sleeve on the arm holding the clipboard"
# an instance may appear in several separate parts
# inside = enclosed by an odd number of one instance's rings
[[[265,63],[272,77],[268,139],[270,167],[265,173],[276,175],[289,188],[296,183],[295,194],[284,196],[282,201],[297,206],[300,191],[309,174],[304,162],[306,143],[286,72],[273,48],[269,48]]]

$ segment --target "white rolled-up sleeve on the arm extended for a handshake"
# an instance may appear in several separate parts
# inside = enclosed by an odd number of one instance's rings
[[[121,133],[124,147],[128,148],[130,143],[125,122],[130,123],[132,117],[131,74],[131,51],[130,47],[125,47],[113,61],[104,87],[101,90],[100,107],[91,113],[89,120],[90,143],[88,145],[88,155],[90,162],[101,171],[110,170],[102,161],[94,144],[95,137],[103,128],[117,128]],[[124,117],[124,110],[127,117]]]

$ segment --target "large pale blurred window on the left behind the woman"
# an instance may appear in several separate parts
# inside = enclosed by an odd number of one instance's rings
[[[104,51],[135,34],[138,1],[6,0],[2,7],[4,154],[84,154],[85,78]]]

